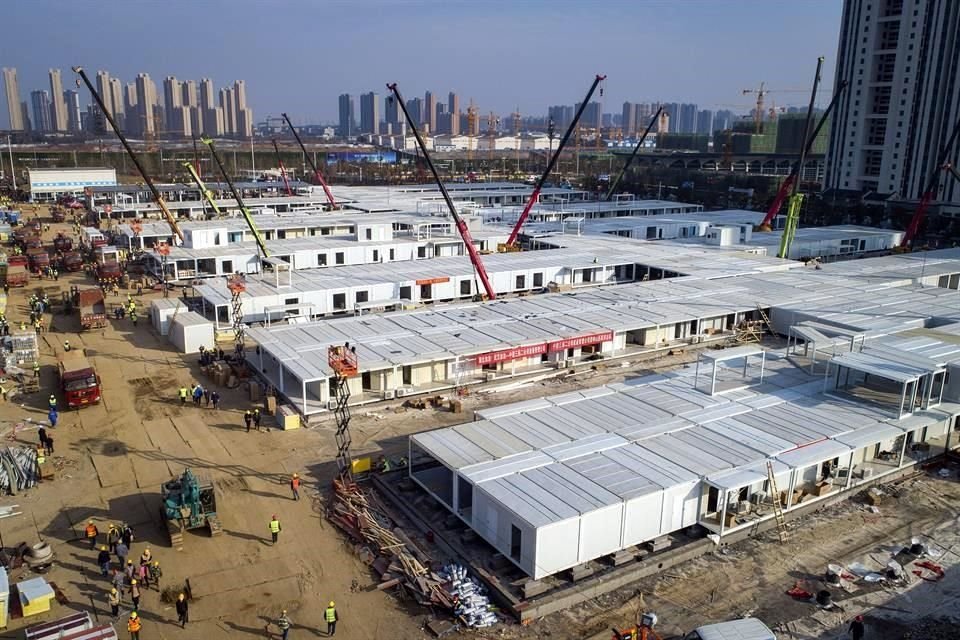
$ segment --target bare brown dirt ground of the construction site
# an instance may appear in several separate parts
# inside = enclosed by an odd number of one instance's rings
[[[26,207],[27,216],[33,215]],[[49,221],[45,208],[42,219]],[[52,240],[69,225],[53,225],[44,234]],[[37,286],[54,296],[70,285],[95,286],[84,274],[62,275],[59,281],[33,280],[29,289],[13,289],[7,318],[16,325],[26,319],[26,298]],[[142,309],[159,293],[134,296]],[[56,453],[51,463],[56,478],[36,489],[0,499],[0,506],[16,504],[21,515],[0,521],[0,543],[10,548],[23,541],[45,540],[56,554],[46,577],[63,594],[63,602],[33,621],[49,620],[72,611],[90,611],[109,620],[106,596],[109,583],[99,575],[96,552],[82,540],[83,528],[93,520],[101,532],[108,523],[130,523],[136,539],[131,558],[149,546],[163,567],[163,586],[189,579],[195,600],[190,623],[180,629],[171,604],[160,602],[156,591],[146,593],[140,607],[143,637],[155,638],[279,638],[274,622],[283,609],[293,622],[291,638],[324,637],[323,609],[336,601],[340,614],[337,637],[347,640],[427,637],[424,623],[431,612],[395,594],[376,590],[377,580],[324,517],[328,488],[334,475],[334,425],[280,431],[272,418],[264,432],[247,433],[242,413],[252,407],[246,387],[218,390],[219,411],[180,406],[177,389],[204,377],[197,356],[178,354],[149,325],[141,312],[139,326],[114,320],[112,305],[126,299],[108,296],[111,312],[107,328],[78,333],[76,318],[47,316],[50,329],[41,341],[41,389],[0,405],[7,443],[36,443],[36,426],[45,422],[47,397],[55,389],[56,354],[64,339],[86,349],[102,378],[104,399],[79,411],[62,411],[51,434]],[[229,344],[222,345],[229,349]],[[406,436],[471,419],[479,407],[503,404],[622,380],[652,369],[682,366],[695,358],[688,351],[652,362],[609,369],[586,370],[563,379],[538,380],[507,390],[472,392],[465,412],[404,409],[396,402],[357,411],[352,422],[356,455],[391,456],[406,452]],[[23,425],[14,431],[15,425]],[[171,549],[160,519],[160,485],[185,467],[212,479],[218,489],[218,511],[224,534],[211,539],[205,530],[188,532],[182,551]],[[304,480],[303,499],[292,499],[290,475]],[[960,580],[954,573],[960,553],[957,509],[960,484],[951,477],[918,475],[891,491],[873,513],[855,501],[845,501],[791,524],[791,540],[781,546],[767,534],[717,550],[655,579],[592,600],[569,611],[550,615],[529,626],[512,623],[469,632],[476,638],[607,638],[611,627],[633,620],[638,606],[660,617],[666,638],[709,621],[752,613],[779,626],[778,637],[840,637],[854,613],[865,612],[868,638],[952,638],[956,627],[949,616],[956,611]],[[892,495],[898,493],[899,497]],[[276,514],[283,530],[271,545],[268,522]],[[820,610],[793,601],[785,591],[797,581],[814,587],[828,563],[861,561],[876,568],[894,545],[912,536],[932,536],[942,547],[937,562],[946,568],[940,582],[910,576],[909,586],[867,589],[854,585],[849,594],[837,593],[845,611]],[[103,540],[101,536],[101,540]],[[956,545],[956,546],[954,546]],[[17,569],[11,581],[32,577]],[[816,590],[815,588],[813,589]],[[642,597],[641,597],[642,594]],[[128,612],[125,598],[122,612]],[[880,608],[884,607],[884,608]],[[122,613],[122,615],[124,615]],[[125,617],[125,615],[124,615]],[[914,621],[943,622],[946,631],[915,633]],[[22,628],[11,622],[6,633]],[[932,627],[930,627],[932,629]],[[123,623],[118,625],[125,637]],[[466,632],[465,632],[466,633]],[[11,636],[12,637],[12,636]]]

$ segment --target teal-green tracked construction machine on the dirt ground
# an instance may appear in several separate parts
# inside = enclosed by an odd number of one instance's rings
[[[201,482],[190,469],[160,485],[160,517],[167,523],[170,544],[183,548],[183,532],[210,528],[210,536],[223,533],[217,517],[217,492],[211,482]]]

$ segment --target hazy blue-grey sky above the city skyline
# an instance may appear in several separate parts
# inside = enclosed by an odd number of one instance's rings
[[[337,96],[397,82],[404,97],[454,90],[481,113],[541,115],[607,75],[604,111],[624,100],[696,102],[746,112],[741,89],[810,86],[816,57],[833,82],[840,0],[8,0],[0,66],[21,100],[49,90],[47,70],[104,69],[247,81],[259,121],[333,121]],[[92,76],[93,74],[91,74]],[[84,92],[85,93],[85,92]],[[771,93],[777,105],[802,92]],[[81,98],[81,105],[89,102]],[[821,93],[829,101],[829,91]],[[359,105],[358,105],[359,108]],[[382,108],[382,107],[381,107]],[[0,101],[0,126],[7,125]]]

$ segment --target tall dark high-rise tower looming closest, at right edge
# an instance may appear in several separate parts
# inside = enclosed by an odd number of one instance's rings
[[[960,118],[960,2],[846,0],[824,187],[914,199]],[[960,151],[954,148],[951,163]],[[934,200],[960,204],[943,180]]]

